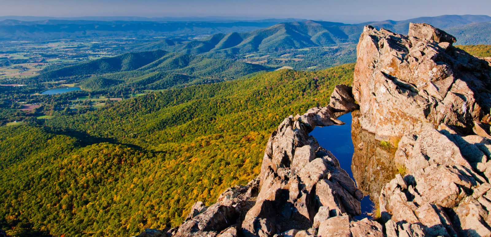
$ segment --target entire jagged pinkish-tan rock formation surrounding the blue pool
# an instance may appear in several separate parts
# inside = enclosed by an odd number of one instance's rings
[[[426,24],[411,24],[409,36],[366,26],[353,89],[336,86],[328,106],[286,118],[257,178],[210,207],[196,203],[181,226],[155,236],[490,237],[491,63],[454,42]],[[309,135],[342,124],[354,99],[355,158],[367,166],[354,175],[377,179],[362,190],[378,192],[378,222],[353,218],[363,193]]]

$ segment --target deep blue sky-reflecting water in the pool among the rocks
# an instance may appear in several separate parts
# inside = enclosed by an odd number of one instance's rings
[[[339,120],[345,122],[345,125],[332,125],[327,127],[316,127],[314,131],[310,132],[310,135],[314,136],[324,149],[329,150],[338,160],[339,166],[344,169],[350,178],[353,178],[353,171],[351,169],[353,154],[355,149],[353,146],[353,140],[351,135],[351,113],[347,113],[338,117]],[[363,219],[369,217],[366,212],[372,211],[372,201],[370,196],[365,196],[361,203],[361,212],[359,216],[355,216],[356,219]]]

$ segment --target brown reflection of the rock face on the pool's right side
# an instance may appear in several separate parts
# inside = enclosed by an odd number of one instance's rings
[[[378,202],[380,190],[397,173],[394,163],[396,149],[375,139],[375,134],[361,129],[360,112],[352,112],[351,134],[355,152],[352,159],[353,177],[363,194]]]

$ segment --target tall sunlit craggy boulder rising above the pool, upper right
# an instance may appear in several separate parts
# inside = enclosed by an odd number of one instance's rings
[[[489,124],[490,62],[453,42],[453,36],[427,24],[410,24],[408,36],[365,26],[353,82],[362,128],[395,146],[424,123],[465,133]],[[490,133],[489,126],[484,130]]]

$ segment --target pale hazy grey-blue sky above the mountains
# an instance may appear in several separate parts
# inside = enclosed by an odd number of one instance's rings
[[[0,0],[0,6],[0,16],[228,16],[344,23],[491,15],[491,0]]]

